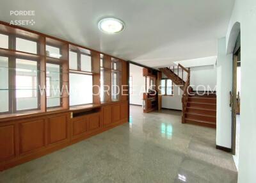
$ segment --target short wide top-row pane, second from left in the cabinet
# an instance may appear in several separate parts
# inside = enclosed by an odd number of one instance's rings
[[[24,40],[22,38],[16,38],[16,50],[37,53],[37,44],[36,42],[30,40]]]

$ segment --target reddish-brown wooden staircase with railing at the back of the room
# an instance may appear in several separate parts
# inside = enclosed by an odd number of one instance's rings
[[[183,90],[182,123],[216,128],[216,93],[193,91],[189,86],[190,69],[180,64],[177,68],[164,67],[159,70]],[[186,80],[184,80],[185,73]]]

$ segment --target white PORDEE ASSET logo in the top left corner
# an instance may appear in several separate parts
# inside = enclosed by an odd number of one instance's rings
[[[20,20],[20,17],[32,17],[35,16],[35,11],[31,10],[11,10],[10,11],[10,16],[12,17],[19,17],[19,20],[11,20],[10,25],[15,25],[15,26],[33,26],[35,25],[35,20],[33,19],[24,19]]]

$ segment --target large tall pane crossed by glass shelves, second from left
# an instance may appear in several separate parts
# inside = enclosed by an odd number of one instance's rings
[[[38,108],[37,62],[16,59],[17,110]]]

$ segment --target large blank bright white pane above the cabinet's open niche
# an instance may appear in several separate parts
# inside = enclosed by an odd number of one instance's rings
[[[84,74],[69,74],[70,106],[90,104],[92,100],[92,76]]]

